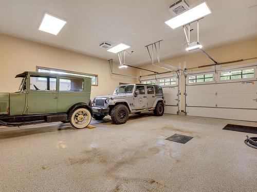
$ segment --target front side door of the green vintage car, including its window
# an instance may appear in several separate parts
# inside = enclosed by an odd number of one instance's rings
[[[57,77],[28,75],[27,114],[57,113]]]

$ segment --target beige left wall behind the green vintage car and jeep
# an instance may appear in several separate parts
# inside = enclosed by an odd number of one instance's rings
[[[115,73],[136,75],[134,69],[119,70],[117,63],[114,65]],[[135,82],[111,75],[106,60],[0,34],[0,92],[17,91],[21,79],[15,79],[15,75],[36,71],[36,66],[97,74],[98,86],[92,86],[91,98],[112,94],[119,82]]]

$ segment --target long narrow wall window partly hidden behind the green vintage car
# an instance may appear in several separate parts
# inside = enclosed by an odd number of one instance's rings
[[[43,68],[43,67],[38,67],[38,72],[54,73],[54,74],[62,74],[62,75],[74,75],[74,76],[79,76],[79,77],[89,77],[89,78],[91,78],[92,86],[98,86],[98,75],[69,72],[69,71],[57,70],[57,69],[48,69],[48,68]]]

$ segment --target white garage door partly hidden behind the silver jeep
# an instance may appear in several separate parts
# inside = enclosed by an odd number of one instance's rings
[[[161,86],[166,102],[164,113],[178,114],[180,95],[178,94],[179,79],[176,76],[162,76],[157,79],[145,79],[141,82],[143,84],[158,84]]]

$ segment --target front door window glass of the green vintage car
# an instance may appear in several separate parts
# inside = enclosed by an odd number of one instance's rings
[[[44,76],[30,76],[30,90],[56,91],[56,78]]]

